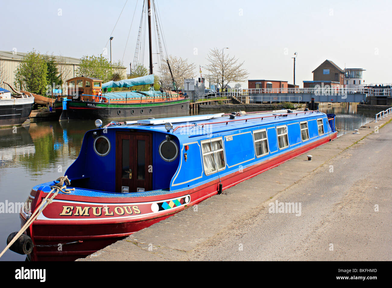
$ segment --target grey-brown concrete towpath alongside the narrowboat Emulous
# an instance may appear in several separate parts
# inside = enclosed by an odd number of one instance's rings
[[[388,118],[78,260],[391,260]],[[269,213],[276,201],[301,210]]]

